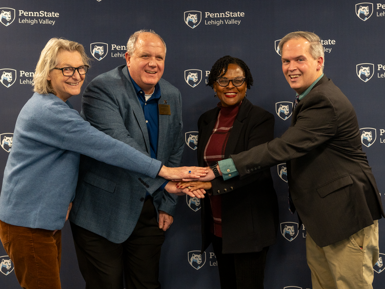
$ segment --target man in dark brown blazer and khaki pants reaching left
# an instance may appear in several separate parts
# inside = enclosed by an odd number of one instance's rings
[[[205,180],[242,178],[286,161],[289,197],[307,229],[313,289],[372,288],[377,220],[384,212],[356,113],[323,74],[316,34],[289,33],[279,51],[283,74],[297,92],[291,126],[280,138],[212,166]]]

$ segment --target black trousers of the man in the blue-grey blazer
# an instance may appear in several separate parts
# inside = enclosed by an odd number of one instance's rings
[[[165,240],[148,198],[131,236],[116,244],[71,223],[77,261],[86,289],[160,289],[160,248]]]

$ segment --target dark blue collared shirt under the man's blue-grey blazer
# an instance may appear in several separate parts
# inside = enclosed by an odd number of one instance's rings
[[[128,70],[128,67],[127,67]],[[128,70],[128,75],[130,71]],[[156,153],[158,149],[158,132],[159,132],[159,118],[158,118],[158,100],[160,99],[160,85],[157,83],[154,88],[154,92],[151,95],[151,98],[146,102],[145,92],[136,84],[130,75],[131,82],[134,86],[136,95],[138,97],[139,103],[143,112],[145,114],[146,126],[148,131],[148,137],[150,140],[150,153],[151,158],[156,159]],[[159,189],[164,189],[166,184],[169,181],[166,181]],[[147,193],[148,194],[148,193]]]

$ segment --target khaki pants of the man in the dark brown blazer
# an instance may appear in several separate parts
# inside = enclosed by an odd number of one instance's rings
[[[378,220],[326,247],[317,246],[308,234],[306,256],[313,289],[372,289],[373,266],[379,256]]]

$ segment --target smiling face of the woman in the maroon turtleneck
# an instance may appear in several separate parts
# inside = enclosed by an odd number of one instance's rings
[[[225,71],[225,70],[224,70]],[[244,78],[245,71],[236,64],[229,64],[227,67],[226,74],[221,75],[221,78],[233,79],[233,78]],[[242,83],[241,86],[234,86],[233,82],[230,81],[227,86],[220,86],[217,82],[213,84],[214,91],[218,95],[222,106],[232,106],[241,102],[245,98],[247,83]]]

